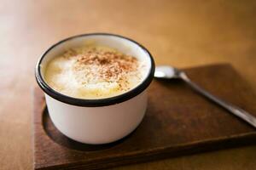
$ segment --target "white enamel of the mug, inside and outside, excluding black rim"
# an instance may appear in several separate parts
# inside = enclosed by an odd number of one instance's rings
[[[117,48],[125,54],[142,59],[149,65],[146,72],[149,74],[150,69],[152,71],[154,61],[150,60],[148,51],[145,51],[136,42],[113,35],[90,35],[71,38],[50,48],[43,55],[43,59],[39,61],[40,64],[37,67],[43,72],[42,78],[44,79],[45,65],[56,54],[61,54],[66,48],[83,45],[88,40]],[[39,82],[38,84],[42,88]],[[147,89],[131,99],[103,106],[71,105],[50,96],[50,94],[44,94],[49,116],[55,127],[68,138],[85,144],[107,144],[124,138],[142,122],[148,100]]]

